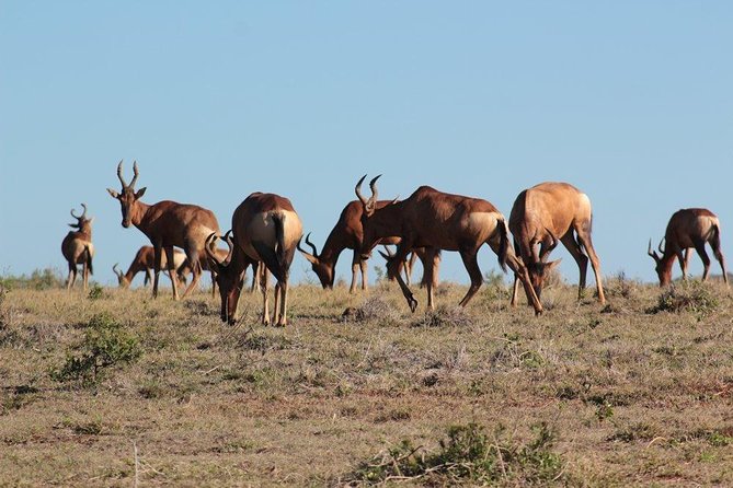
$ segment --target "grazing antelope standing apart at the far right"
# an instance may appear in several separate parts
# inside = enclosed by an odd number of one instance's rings
[[[664,248],[662,248],[664,242]],[[689,249],[694,247],[702,259],[705,270],[702,271],[702,281],[708,279],[710,271],[710,258],[705,251],[705,244],[710,243],[712,252],[720,263],[723,270],[723,280],[728,284],[728,271],[725,270],[725,258],[720,251],[720,221],[713,212],[705,208],[684,208],[672,214],[664,239],[660,242],[658,249],[652,251],[652,240],[649,240],[649,249],[646,253],[656,264],[655,270],[660,278],[660,287],[668,284],[672,280],[672,265],[675,258],[679,259],[679,267],[683,270],[683,279],[687,279],[687,264],[689,262]],[[685,255],[683,256],[683,251]]]

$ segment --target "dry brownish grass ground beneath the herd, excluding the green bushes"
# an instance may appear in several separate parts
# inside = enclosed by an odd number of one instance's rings
[[[14,289],[0,295],[0,480],[339,486],[402,441],[437,452],[450,426],[503,426],[525,445],[543,423],[564,469],[548,483],[730,483],[728,291],[696,289],[714,298],[705,313],[685,302],[652,314],[658,288],[623,277],[607,288],[602,309],[559,283],[535,318],[489,287],[456,311],[465,288],[446,286],[434,314],[416,290],[412,315],[396,286],[366,295],[300,286],[284,329],[257,325],[261,299],[248,293],[243,323],[230,328],[204,293],[173,303],[145,290],[92,300]],[[342,319],[350,307],[360,315]],[[121,324],[141,355],[92,382],[53,380],[99,316]]]

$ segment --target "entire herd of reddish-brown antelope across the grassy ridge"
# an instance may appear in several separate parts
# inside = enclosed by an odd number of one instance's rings
[[[142,246],[137,252],[127,271],[113,267],[121,287],[128,287],[135,275],[146,274],[146,283],[152,280],[152,295],[158,295],[161,269],[168,271],[173,288],[173,298],[179,300],[179,281],[184,286],[187,275],[191,283],[182,294],[187,297],[199,281],[204,270],[211,272],[213,293],[219,288],[221,321],[236,323],[237,304],[244,283],[247,268],[252,266],[252,291],[259,284],[263,294],[262,323],[270,324],[268,276],[276,279],[274,323],[287,324],[287,291],[290,264],[296,249],[311,264],[324,289],[333,288],[335,265],[340,254],[353,249],[352,282],[350,291],[357,286],[362,272],[362,288],[367,287],[366,260],[378,245],[397,245],[396,252],[381,253],[387,259],[387,275],[397,280],[412,312],[417,300],[410,290],[410,275],[415,257],[423,264],[422,284],[427,292],[427,309],[435,306],[434,290],[437,286],[438,265],[442,251],[460,254],[471,284],[459,302],[466,306],[482,284],[483,276],[477,254],[485,243],[499,257],[504,271],[514,272],[512,306],[518,302],[519,282],[528,304],[535,314],[542,313],[540,295],[543,282],[558,260],[548,257],[558,242],[568,248],[580,269],[579,299],[585,288],[588,260],[595,274],[597,298],[606,301],[600,279],[600,262],[593,247],[592,208],[587,195],[566,183],[541,183],[525,189],[514,201],[508,222],[488,200],[451,195],[430,186],[421,186],[404,200],[378,200],[377,179],[369,183],[371,195],[362,194],[363,176],[355,186],[358,200],[351,201],[329,234],[321,252],[310,241],[301,246],[302,223],[290,200],[274,194],[253,193],[234,210],[231,228],[221,235],[219,223],[210,210],[196,205],[184,205],[163,200],[153,205],[140,201],[146,188],[135,189],[139,176],[137,162],[133,164],[129,184],[123,177],[123,162],[117,165],[117,177],[122,191],[107,188],[119,201],[122,225],[138,228],[152,246]],[[61,252],[69,265],[67,289],[73,287],[77,266],[82,265],[83,288],[87,289],[92,274],[94,246],[92,221],[87,218],[87,206],[77,216],[71,209],[75,228],[64,239]],[[513,242],[509,243],[509,235]],[[227,249],[218,248],[218,240]],[[663,247],[664,243],[664,247]],[[654,259],[660,286],[669,283],[675,259],[679,260],[683,279],[687,279],[689,249],[695,248],[705,266],[702,280],[708,278],[710,258],[705,246],[709,243],[720,263],[723,279],[728,284],[725,260],[720,249],[720,222],[714,213],[702,208],[682,209],[669,219],[658,252],[649,242],[649,255]],[[183,252],[176,249],[179,247]],[[411,256],[411,257],[410,257]],[[402,278],[402,272],[405,279]]]

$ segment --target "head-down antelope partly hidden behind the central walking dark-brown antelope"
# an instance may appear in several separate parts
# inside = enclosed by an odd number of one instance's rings
[[[382,208],[389,204],[391,204],[391,200],[377,201],[377,208]],[[356,290],[359,270],[362,271],[362,290],[367,289],[367,263],[360,256],[362,239],[364,236],[362,213],[363,208],[358,200],[346,204],[320,253],[316,248],[316,245],[310,242],[310,233],[306,235],[306,244],[310,246],[312,253],[303,249],[300,246],[300,242],[298,242],[298,251],[310,263],[313,272],[316,272],[324,289],[333,289],[336,262],[344,249],[354,249],[352,257],[352,283],[348,292],[354,293]],[[380,244],[397,244],[399,241],[399,237],[389,236],[382,239]]]

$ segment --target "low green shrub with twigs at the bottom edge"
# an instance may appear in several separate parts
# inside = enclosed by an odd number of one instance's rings
[[[421,479],[431,486],[459,483],[496,485],[548,484],[562,477],[564,461],[553,452],[547,423],[532,426],[535,438],[522,444],[499,426],[493,438],[477,423],[451,426],[435,452],[409,440],[362,463],[352,478],[367,484]]]

